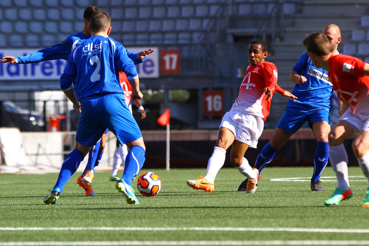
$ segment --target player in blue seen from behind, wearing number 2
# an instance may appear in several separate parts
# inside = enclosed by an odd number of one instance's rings
[[[133,87],[132,98],[139,100],[142,93],[136,67],[123,45],[108,38],[110,24],[106,12],[92,15],[91,37],[68,56],[60,77],[60,87],[80,112],[80,117],[76,147],[66,156],[54,188],[44,199],[45,204],[55,204],[65,183],[106,128],[122,145],[130,147],[123,177],[117,181],[116,189],[123,193],[129,204],[139,204],[131,183],[145,161],[145,144],[137,122],[125,104],[118,69],[126,73]]]

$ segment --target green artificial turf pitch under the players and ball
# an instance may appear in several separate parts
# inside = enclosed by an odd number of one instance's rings
[[[186,180],[204,176],[205,169],[153,169],[141,170],[140,174],[145,171],[158,174],[162,188],[154,197],[145,197],[138,194],[134,180],[132,186],[139,205],[126,203],[123,195],[115,190],[115,183],[108,181],[110,172],[96,173],[92,185],[97,197],[85,196],[84,190],[76,184],[80,174],[75,174],[55,205],[44,205],[43,199],[48,189],[54,186],[58,174],[1,174],[0,245],[6,245],[6,242],[32,245],[27,242],[45,241],[149,240],[186,245],[186,241],[194,240],[214,241],[214,245],[229,242],[232,245],[233,241],[250,240],[265,243],[272,240],[369,240],[369,208],[362,207],[366,179],[359,167],[349,168],[353,197],[335,207],[323,205],[337,184],[331,167],[327,167],[321,179],[325,188],[323,192],[310,191],[313,167],[268,167],[262,172],[255,194],[237,191],[244,180],[237,169],[221,169],[215,180],[215,190],[210,194],[186,185]],[[271,181],[295,177],[306,181]],[[8,227],[11,228],[4,229]],[[34,227],[64,229],[29,229]],[[67,230],[65,227],[79,229]],[[132,227],[134,230],[124,229]],[[215,229],[211,230],[212,227]],[[244,231],[234,231],[237,228]],[[278,228],[317,230],[277,231]],[[320,232],[319,228],[366,229],[366,232]]]

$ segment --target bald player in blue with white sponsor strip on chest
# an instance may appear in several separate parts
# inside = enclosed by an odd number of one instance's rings
[[[333,54],[339,54],[340,52],[337,51],[337,46],[341,42],[339,27],[335,24],[327,25],[323,34],[330,40]],[[324,191],[320,184],[320,176],[328,162],[332,83],[328,79],[328,71],[315,67],[306,51],[294,65],[290,79],[296,83],[292,94],[298,99],[289,100],[272,138],[256,158],[255,168],[259,170],[258,179],[261,177],[261,171],[273,159],[277,150],[307,121],[317,139],[310,189],[311,191]],[[247,179],[244,180],[238,187],[238,191],[246,191],[248,182]]]

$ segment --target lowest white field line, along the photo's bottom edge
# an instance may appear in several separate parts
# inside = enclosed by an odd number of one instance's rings
[[[0,246],[30,245],[369,245],[369,240],[267,240],[267,241],[44,241],[0,242]]]

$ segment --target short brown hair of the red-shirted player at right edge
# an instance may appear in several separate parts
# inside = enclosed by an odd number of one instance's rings
[[[304,39],[306,51],[313,52],[318,56],[328,55],[331,52],[331,44],[324,34],[313,32]]]

